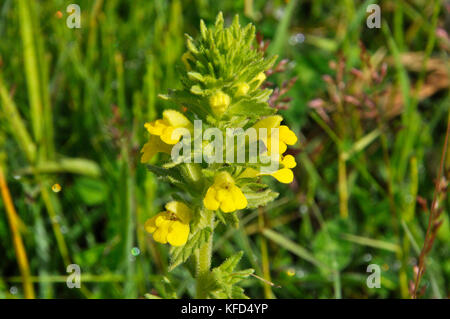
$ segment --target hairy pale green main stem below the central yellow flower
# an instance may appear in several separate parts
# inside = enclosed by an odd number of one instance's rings
[[[213,234],[214,234],[214,212],[203,211],[206,217],[207,226],[211,227],[211,234],[209,235],[206,243],[201,246],[197,253],[197,299],[204,299],[208,295],[208,289],[206,287],[208,277],[210,275],[211,257],[213,247]]]

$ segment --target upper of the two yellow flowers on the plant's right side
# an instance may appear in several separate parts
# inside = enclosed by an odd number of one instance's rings
[[[271,151],[271,146],[273,144],[273,138],[271,136],[272,128],[278,128],[278,154],[283,154],[287,149],[287,145],[294,145],[297,143],[297,136],[295,133],[292,132],[286,125],[280,125],[282,120],[283,118],[280,115],[272,115],[258,121],[255,125],[253,125],[253,128],[256,129],[258,136],[260,128],[267,129],[267,136],[262,140],[269,151]]]

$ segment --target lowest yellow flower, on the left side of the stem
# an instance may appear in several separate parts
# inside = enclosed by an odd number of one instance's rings
[[[166,204],[166,211],[147,220],[144,227],[161,244],[183,246],[189,236],[191,216],[191,209],[184,203],[172,201]]]

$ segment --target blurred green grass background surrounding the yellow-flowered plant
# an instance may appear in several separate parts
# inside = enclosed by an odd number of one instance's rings
[[[268,178],[279,198],[217,229],[213,265],[243,250],[252,298],[409,298],[426,242],[417,291],[449,296],[449,2],[379,1],[379,28],[373,1],[77,0],[69,28],[71,3],[0,0],[0,298],[194,296],[144,232],[174,190],[139,149],[184,33],[219,11],[279,55],[271,104],[300,143],[294,183]]]

